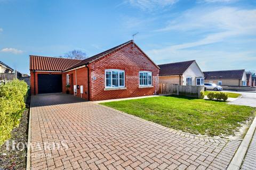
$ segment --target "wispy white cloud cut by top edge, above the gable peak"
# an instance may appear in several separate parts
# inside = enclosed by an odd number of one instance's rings
[[[132,6],[142,10],[154,10],[154,8],[166,7],[177,3],[178,0],[129,0]]]

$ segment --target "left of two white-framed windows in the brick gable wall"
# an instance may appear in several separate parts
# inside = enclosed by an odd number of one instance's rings
[[[105,70],[105,87],[118,88],[124,87],[124,70]]]

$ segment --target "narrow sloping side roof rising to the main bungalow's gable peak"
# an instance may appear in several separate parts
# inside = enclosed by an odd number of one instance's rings
[[[86,64],[88,64],[88,63],[91,63],[91,62],[93,62],[93,61],[95,61],[95,60],[98,60],[99,58],[101,58],[101,57],[103,57],[103,56],[106,56],[106,55],[108,55],[108,54],[114,52],[115,50],[117,50],[117,49],[119,49],[119,48],[122,48],[122,47],[124,47],[125,45],[130,44],[130,43],[132,43],[132,42],[133,42],[133,40],[127,41],[126,43],[123,43],[123,44],[121,44],[121,45],[118,45],[118,46],[116,46],[116,47],[114,47],[114,48],[110,48],[110,49],[106,50],[105,52],[102,52],[102,53],[96,54],[96,55],[94,55],[94,56],[92,56],[92,57],[86,58],[85,60],[83,60],[83,61],[77,63],[76,65],[73,65],[73,66],[68,67],[66,70],[74,69],[75,67],[79,67],[79,66],[82,66],[82,65],[86,65]]]

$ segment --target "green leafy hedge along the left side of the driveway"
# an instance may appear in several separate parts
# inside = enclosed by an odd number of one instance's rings
[[[13,80],[0,85],[0,146],[11,137],[26,107],[27,84]]]

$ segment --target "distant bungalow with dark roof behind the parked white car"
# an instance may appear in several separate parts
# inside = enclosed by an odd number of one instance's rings
[[[204,80],[219,86],[247,86],[245,70],[206,71]]]

